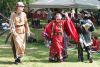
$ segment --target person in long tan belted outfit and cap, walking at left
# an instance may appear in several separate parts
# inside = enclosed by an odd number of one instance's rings
[[[23,12],[23,2],[17,2],[16,11],[11,14],[11,46],[15,63],[21,63],[20,58],[25,53],[26,33],[30,35],[26,14]]]

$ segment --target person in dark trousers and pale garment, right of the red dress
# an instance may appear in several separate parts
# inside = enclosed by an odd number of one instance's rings
[[[79,33],[79,44],[78,44],[78,60],[83,62],[83,49],[85,48],[85,51],[87,52],[87,59],[89,60],[89,63],[92,63],[92,53],[91,53],[91,45],[92,45],[92,39],[91,39],[91,32],[93,29],[90,29],[93,27],[92,21],[88,18],[88,12],[87,11],[81,11],[81,17],[78,24],[78,33]]]

